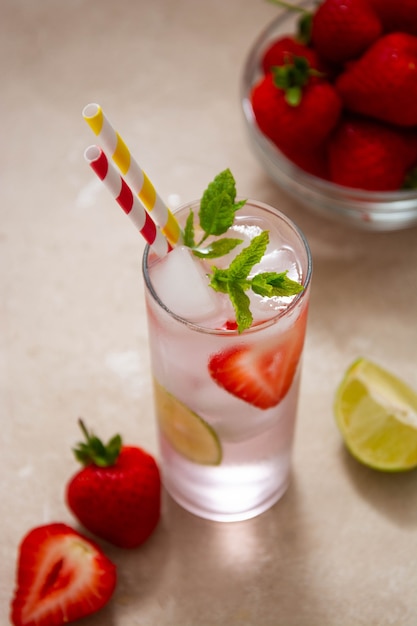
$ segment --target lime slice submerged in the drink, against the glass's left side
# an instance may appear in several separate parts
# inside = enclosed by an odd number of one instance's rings
[[[154,394],[159,426],[172,447],[194,463],[219,465],[222,448],[210,424],[156,381]]]

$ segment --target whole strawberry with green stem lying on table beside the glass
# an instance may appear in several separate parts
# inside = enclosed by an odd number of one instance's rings
[[[154,458],[123,446],[119,435],[105,446],[80,420],[86,442],[75,450],[85,466],[69,482],[71,511],[89,531],[122,548],[142,544],[160,517],[161,480]]]

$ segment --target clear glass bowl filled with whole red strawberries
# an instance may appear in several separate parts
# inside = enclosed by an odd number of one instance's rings
[[[367,230],[417,224],[417,36],[387,29],[386,4],[285,3],[242,77],[244,124],[267,174],[303,206]],[[412,20],[409,0],[398,5]]]

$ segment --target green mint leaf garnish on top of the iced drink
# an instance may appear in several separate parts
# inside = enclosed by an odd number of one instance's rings
[[[191,248],[193,254],[200,258],[215,259],[228,254],[243,243],[243,240],[222,237],[211,239],[208,244],[206,241],[209,237],[223,235],[233,225],[236,211],[245,203],[246,200],[236,202],[236,183],[231,171],[226,169],[218,174],[203,193],[200,202],[198,217],[202,235],[196,242],[194,212],[191,210],[184,228],[184,245]],[[261,272],[249,278],[254,265],[264,256],[268,243],[269,232],[263,231],[233,259],[227,269],[213,266],[212,273],[209,274],[210,287],[228,294],[235,311],[239,333],[250,328],[253,322],[246,291],[252,289],[260,296],[272,298],[293,296],[304,289],[300,283],[288,278],[287,271]]]

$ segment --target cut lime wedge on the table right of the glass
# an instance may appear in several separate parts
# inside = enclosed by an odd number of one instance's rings
[[[387,472],[417,467],[417,394],[403,381],[358,359],[339,385],[334,411],[359,461]]]

